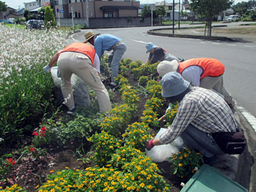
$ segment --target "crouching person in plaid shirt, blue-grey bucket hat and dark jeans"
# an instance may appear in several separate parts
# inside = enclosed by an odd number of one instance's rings
[[[213,91],[191,86],[176,71],[166,73],[161,86],[166,100],[180,104],[173,124],[159,138],[147,141],[146,149],[169,144],[180,136],[186,148],[199,151],[204,164],[216,163],[218,155],[225,155],[225,152],[211,134],[240,130],[228,104]]]

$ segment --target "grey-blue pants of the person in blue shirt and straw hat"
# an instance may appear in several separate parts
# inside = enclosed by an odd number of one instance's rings
[[[109,55],[108,62],[110,63],[111,70],[112,70],[111,82],[115,82],[114,77],[117,77],[118,75],[118,68],[120,65],[120,61],[125,51],[126,51],[126,45],[125,43],[121,42],[119,43],[119,45],[117,45],[114,48],[114,50]]]

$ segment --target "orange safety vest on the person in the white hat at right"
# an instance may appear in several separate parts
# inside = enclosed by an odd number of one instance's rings
[[[179,72],[182,75],[183,70],[189,66],[199,66],[203,69],[203,73],[200,76],[201,78],[211,76],[218,77],[224,73],[224,66],[218,60],[214,58],[191,58],[190,60],[186,60],[179,63]]]

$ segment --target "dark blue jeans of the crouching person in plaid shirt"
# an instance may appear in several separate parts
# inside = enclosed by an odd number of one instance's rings
[[[200,131],[191,124],[186,127],[180,137],[186,148],[198,150],[203,156],[225,155],[210,134]]]

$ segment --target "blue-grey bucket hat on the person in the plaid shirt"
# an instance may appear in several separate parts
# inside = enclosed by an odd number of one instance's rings
[[[186,91],[190,83],[180,75],[178,72],[169,72],[164,75],[161,80],[162,96],[173,97]]]

